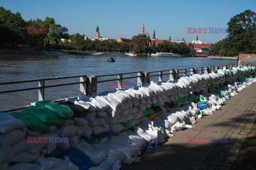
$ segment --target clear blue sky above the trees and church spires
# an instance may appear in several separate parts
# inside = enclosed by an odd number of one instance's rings
[[[227,34],[187,34],[187,27],[227,28],[227,22],[234,15],[252,10],[256,12],[255,0],[244,1],[18,1],[0,0],[0,6],[12,12],[20,12],[23,19],[45,19],[52,17],[69,33],[95,36],[95,28],[100,28],[100,36],[106,38],[131,38],[141,34],[142,23],[150,38],[156,31],[157,39],[172,41],[182,39],[187,42],[199,39],[203,43],[215,43]]]

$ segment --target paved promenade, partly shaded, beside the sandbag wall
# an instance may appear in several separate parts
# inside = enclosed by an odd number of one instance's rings
[[[155,152],[143,153],[142,163],[122,169],[230,169],[256,118],[255,89],[256,83],[251,84],[213,115],[197,119],[193,128],[175,132]],[[188,136],[207,137],[207,143],[189,143]],[[228,137],[228,143],[209,143],[209,136]]]

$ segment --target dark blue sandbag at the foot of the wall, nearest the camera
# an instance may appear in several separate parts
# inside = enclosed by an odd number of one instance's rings
[[[93,167],[90,157],[76,148],[69,148],[68,150],[62,152],[60,159],[64,159],[65,156],[68,156],[73,164],[78,166],[79,170],[88,170]]]

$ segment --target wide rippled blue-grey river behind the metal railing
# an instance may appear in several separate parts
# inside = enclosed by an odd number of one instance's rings
[[[114,56],[116,62],[106,62]],[[158,71],[167,69],[182,69],[192,67],[209,67],[235,64],[235,60],[209,58],[151,58],[131,57],[122,54],[102,55],[44,55],[44,56],[1,56],[0,55],[0,82],[13,82],[40,78],[67,77],[67,76],[96,76],[117,74],[134,71]],[[135,76],[131,74],[130,76]],[[129,76],[129,75],[127,75]],[[115,77],[106,77],[114,79]],[[100,78],[99,78],[100,79]],[[79,82],[79,78],[71,79]],[[100,79],[101,80],[101,79]],[[156,80],[156,77],[152,80]],[[164,77],[167,80],[167,76]],[[127,86],[134,85],[136,78],[127,79]],[[45,85],[69,83],[67,80],[49,81]],[[123,80],[125,82],[125,80]],[[18,88],[36,87],[38,82],[14,85],[1,85],[0,91]],[[108,83],[98,84],[98,92],[111,90]],[[57,100],[69,96],[77,96],[79,85],[61,86],[45,89],[45,100]],[[0,94],[0,110],[26,106],[38,100],[38,91],[26,91]]]

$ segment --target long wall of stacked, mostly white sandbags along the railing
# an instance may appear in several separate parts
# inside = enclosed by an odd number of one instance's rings
[[[254,77],[255,67],[233,67],[232,70],[224,67],[217,73],[184,76],[173,82],[150,82],[142,87],[94,96],[80,93],[78,100],[69,98],[61,105],[51,101],[35,102],[34,107],[23,110],[30,115],[26,120],[15,119],[13,116],[17,117],[17,113],[0,114],[0,164],[7,167],[10,163],[33,163],[38,158],[58,157],[59,152],[70,147],[89,156],[93,165],[103,160],[117,161],[117,165],[118,161],[140,161],[137,156],[141,150],[150,151],[149,146],[164,142],[165,136],[189,127],[198,114],[201,117],[219,109],[224,100],[255,82]],[[56,122],[42,118],[45,115],[36,119],[34,111],[31,117],[31,109],[49,109],[50,120],[54,118]],[[49,136],[68,140],[28,143],[28,136],[37,140]],[[109,166],[114,164],[109,162]]]

